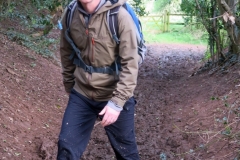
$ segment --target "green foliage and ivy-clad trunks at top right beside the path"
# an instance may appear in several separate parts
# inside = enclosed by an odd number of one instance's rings
[[[237,19],[240,16],[240,7],[232,0],[226,1],[225,6],[231,11],[224,9],[217,0],[182,0],[181,3],[181,10],[189,16],[195,16],[195,22],[203,24],[203,29],[208,33],[209,47],[205,59],[214,64],[212,67],[223,66],[231,59],[230,56],[239,55],[240,48],[236,39],[239,39],[240,28]],[[236,24],[223,20],[225,13],[235,18]],[[193,23],[188,19],[186,22]]]

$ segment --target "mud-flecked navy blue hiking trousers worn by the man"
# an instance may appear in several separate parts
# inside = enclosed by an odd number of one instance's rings
[[[106,104],[107,101],[93,101],[74,89],[71,91],[59,134],[57,160],[81,158],[98,114]],[[139,160],[134,131],[135,104],[135,99],[130,98],[117,121],[104,127],[118,160]]]

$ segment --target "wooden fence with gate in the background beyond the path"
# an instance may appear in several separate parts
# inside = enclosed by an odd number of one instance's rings
[[[159,30],[161,32],[168,32],[170,25],[184,25],[183,17],[187,16],[186,14],[171,14],[169,12],[165,12],[162,15],[149,15],[140,17],[140,20],[143,25],[143,30],[148,32],[152,31],[153,27],[155,30]],[[180,21],[172,21],[173,17],[179,17]],[[178,18],[178,19],[179,19]],[[152,27],[148,27],[147,24],[151,23]]]

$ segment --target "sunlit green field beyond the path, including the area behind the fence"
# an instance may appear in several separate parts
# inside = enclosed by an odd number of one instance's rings
[[[142,17],[141,22],[147,43],[207,45],[207,33],[196,26],[185,26],[182,16]]]

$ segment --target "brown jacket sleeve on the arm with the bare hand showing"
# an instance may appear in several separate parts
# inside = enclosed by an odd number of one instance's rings
[[[121,58],[122,71],[119,74],[119,82],[110,100],[118,107],[123,107],[125,102],[133,96],[138,76],[138,47],[136,27],[130,14],[121,7],[118,13],[119,25],[119,56]]]

